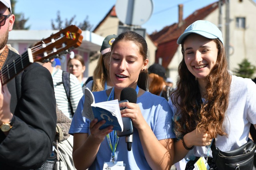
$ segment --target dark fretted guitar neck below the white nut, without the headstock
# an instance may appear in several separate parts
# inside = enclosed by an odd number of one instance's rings
[[[0,80],[2,85],[12,80],[31,63],[32,62],[29,60],[28,51],[25,51],[20,57],[17,57],[11,63],[5,64],[5,66],[0,70]]]

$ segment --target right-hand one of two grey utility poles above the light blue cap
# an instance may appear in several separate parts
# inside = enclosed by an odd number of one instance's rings
[[[225,26],[225,51],[227,56],[227,62],[228,62],[228,69],[229,69],[229,0],[226,0],[226,26]]]

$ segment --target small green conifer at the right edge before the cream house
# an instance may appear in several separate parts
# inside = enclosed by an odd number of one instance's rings
[[[251,63],[246,58],[242,61],[242,63],[238,65],[239,68],[235,69],[236,75],[242,78],[252,79],[252,76],[256,71],[256,67],[254,65],[251,65]]]

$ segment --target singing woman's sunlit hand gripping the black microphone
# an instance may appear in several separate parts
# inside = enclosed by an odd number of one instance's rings
[[[122,117],[129,117],[132,120],[132,124],[137,129],[142,129],[146,123],[140,107],[136,103],[123,102],[119,104],[119,107],[127,107],[121,111]]]

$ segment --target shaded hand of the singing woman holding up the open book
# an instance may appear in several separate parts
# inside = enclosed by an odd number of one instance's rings
[[[113,126],[108,126],[107,128],[102,130],[99,129],[100,126],[105,122],[105,120],[101,120],[100,122],[98,122],[98,119],[94,119],[90,122],[90,137],[93,138],[97,143],[101,143],[105,139],[105,136],[113,131]]]

